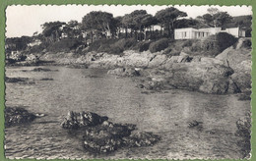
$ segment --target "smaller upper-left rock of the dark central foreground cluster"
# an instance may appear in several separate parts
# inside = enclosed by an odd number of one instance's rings
[[[73,112],[70,111],[64,121],[61,123],[64,129],[77,129],[81,127],[90,127],[102,124],[108,120],[107,117],[101,117],[93,112]]]

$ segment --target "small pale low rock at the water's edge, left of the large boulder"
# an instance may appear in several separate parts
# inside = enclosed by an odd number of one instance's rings
[[[138,77],[140,72],[133,68],[116,68],[114,70],[109,70],[108,75],[116,75],[122,77]]]

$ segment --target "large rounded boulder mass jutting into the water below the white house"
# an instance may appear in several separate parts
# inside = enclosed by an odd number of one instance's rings
[[[172,63],[168,69],[162,66],[162,69],[149,70],[149,73],[141,85],[148,89],[185,88],[218,94],[239,92],[239,87],[230,79],[233,70],[212,60]]]

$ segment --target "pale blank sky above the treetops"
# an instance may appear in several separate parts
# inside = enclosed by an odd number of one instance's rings
[[[45,22],[69,22],[76,20],[82,22],[82,18],[91,11],[104,11],[112,13],[114,17],[129,14],[134,10],[146,10],[155,15],[158,11],[169,6],[151,5],[13,5],[6,9],[6,36],[16,37],[22,35],[31,36],[33,32],[41,31],[40,25]],[[186,12],[188,18],[196,18],[207,13],[210,7],[227,12],[230,16],[252,15],[251,6],[185,6],[174,5],[180,11]]]

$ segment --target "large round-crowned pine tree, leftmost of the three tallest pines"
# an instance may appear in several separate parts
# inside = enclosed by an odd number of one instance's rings
[[[87,14],[82,20],[83,27],[91,32],[93,42],[94,32],[103,32],[106,36],[111,36],[111,32],[116,30],[113,15],[101,11],[93,11]]]

